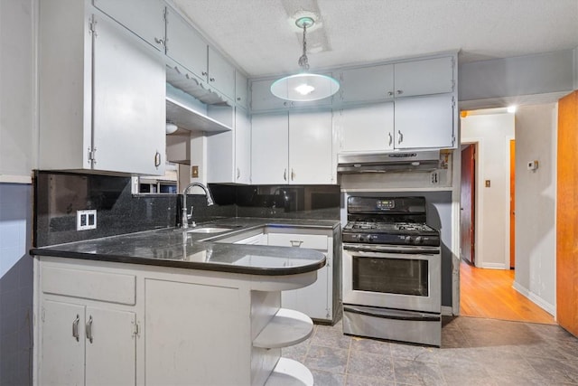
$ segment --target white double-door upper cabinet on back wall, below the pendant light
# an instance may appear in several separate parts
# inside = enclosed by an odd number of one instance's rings
[[[335,184],[331,111],[254,115],[251,184]]]

